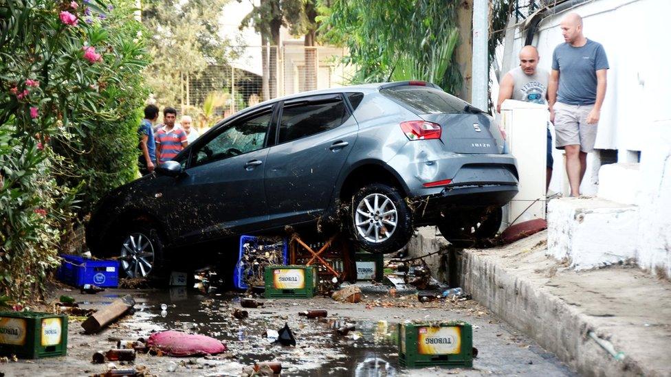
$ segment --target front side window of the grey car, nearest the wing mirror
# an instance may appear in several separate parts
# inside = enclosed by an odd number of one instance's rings
[[[263,141],[270,127],[271,118],[272,111],[268,111],[235,122],[212,140],[194,150],[195,161],[192,165],[202,165],[263,148]]]

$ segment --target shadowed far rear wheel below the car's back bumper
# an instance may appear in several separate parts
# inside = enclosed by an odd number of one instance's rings
[[[437,225],[443,237],[457,247],[473,247],[478,240],[496,236],[503,220],[501,207],[455,210]]]

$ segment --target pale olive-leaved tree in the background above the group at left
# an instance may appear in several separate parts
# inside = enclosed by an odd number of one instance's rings
[[[189,83],[208,65],[224,65],[235,55],[219,34],[223,6],[230,0],[146,0],[142,20],[150,30],[148,69],[159,104],[191,104]]]

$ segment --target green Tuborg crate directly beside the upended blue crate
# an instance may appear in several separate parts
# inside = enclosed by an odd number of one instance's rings
[[[309,299],[317,291],[314,266],[267,266],[264,278],[267,299]]]

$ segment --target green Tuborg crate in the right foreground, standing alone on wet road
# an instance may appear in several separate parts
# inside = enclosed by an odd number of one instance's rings
[[[473,366],[473,329],[469,323],[404,322],[398,332],[401,366]]]

